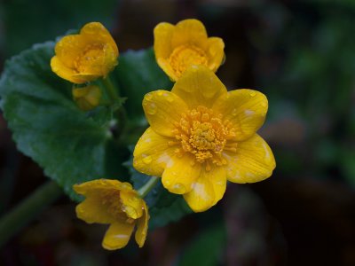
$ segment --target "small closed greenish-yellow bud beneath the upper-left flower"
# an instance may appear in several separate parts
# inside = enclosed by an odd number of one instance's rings
[[[89,111],[99,106],[102,93],[99,86],[90,85],[83,88],[75,88],[72,91],[73,98],[83,111]]]

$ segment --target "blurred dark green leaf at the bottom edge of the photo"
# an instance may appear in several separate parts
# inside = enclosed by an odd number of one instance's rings
[[[217,224],[202,231],[186,247],[180,257],[180,266],[218,265],[225,249],[226,231],[224,224]]]

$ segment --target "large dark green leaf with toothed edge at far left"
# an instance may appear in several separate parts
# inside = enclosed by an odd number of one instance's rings
[[[72,85],[51,72],[54,44],[37,44],[6,63],[1,104],[19,150],[77,200],[73,184],[104,177],[124,180],[120,161],[127,151],[112,137],[108,107],[81,111],[72,100]]]

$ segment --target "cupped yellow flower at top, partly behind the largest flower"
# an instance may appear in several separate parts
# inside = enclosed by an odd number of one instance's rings
[[[208,37],[199,20],[182,20],[176,26],[162,22],[154,28],[156,61],[173,81],[193,65],[216,72],[225,57],[224,49],[223,40]]]

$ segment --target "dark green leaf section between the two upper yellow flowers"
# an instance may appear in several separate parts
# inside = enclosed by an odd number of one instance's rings
[[[142,100],[152,90],[170,90],[172,82],[156,64],[152,48],[140,51],[127,51],[119,58],[114,72],[127,99],[130,117],[143,116]]]

